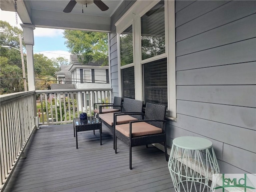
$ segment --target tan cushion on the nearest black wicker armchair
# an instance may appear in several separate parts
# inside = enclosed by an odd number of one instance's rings
[[[130,136],[130,124],[116,125],[116,130],[124,134],[126,137]],[[132,123],[132,137],[159,134],[162,132],[161,128],[155,127],[146,122]]]

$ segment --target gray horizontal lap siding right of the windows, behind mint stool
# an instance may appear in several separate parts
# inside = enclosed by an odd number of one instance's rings
[[[177,122],[168,122],[168,145],[205,137],[222,173],[255,173],[256,2],[175,6]]]

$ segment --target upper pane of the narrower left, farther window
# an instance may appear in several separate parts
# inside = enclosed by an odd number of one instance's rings
[[[121,66],[133,63],[132,25],[120,34],[120,61]]]

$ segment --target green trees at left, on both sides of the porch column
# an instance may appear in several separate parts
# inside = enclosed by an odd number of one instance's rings
[[[16,26],[11,26],[8,22],[1,21],[1,46],[11,46],[20,49],[19,34],[22,30]],[[24,47],[25,48],[25,47]],[[18,50],[1,47],[0,56],[0,94],[24,91],[22,80],[22,62]],[[27,74],[26,54],[24,54],[25,71]],[[65,58],[49,59],[43,54],[34,54],[34,70],[36,79],[36,89],[49,89],[52,83],[56,83],[55,72],[60,69],[60,64],[66,64]]]

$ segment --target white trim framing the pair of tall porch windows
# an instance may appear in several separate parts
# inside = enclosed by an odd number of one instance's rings
[[[161,54],[145,60],[141,59],[141,30],[140,17],[148,10],[154,7],[160,0],[156,1],[136,1],[131,8],[115,23],[117,32],[118,45],[118,88],[119,96],[122,96],[122,81],[120,68],[120,40],[119,34],[128,26],[127,23],[133,23],[133,39],[134,42],[134,78],[135,78],[135,98],[143,100],[142,94],[142,64],[150,61],[158,60],[160,58],[167,58],[167,91],[168,91],[168,118],[176,120],[176,45],[175,45],[175,2],[165,0],[165,54]],[[167,10],[167,11],[166,11]],[[139,44],[139,45],[138,45]]]

